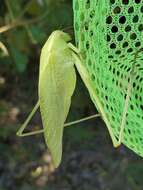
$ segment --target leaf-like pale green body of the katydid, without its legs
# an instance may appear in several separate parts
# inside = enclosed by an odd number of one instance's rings
[[[76,84],[72,51],[67,46],[69,40],[67,34],[53,32],[40,58],[40,112],[55,167],[61,161],[63,128]]]

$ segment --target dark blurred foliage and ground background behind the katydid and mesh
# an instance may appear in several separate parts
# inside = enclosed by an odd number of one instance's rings
[[[0,190],[143,190],[142,158],[114,149],[100,118],[64,130],[56,170],[43,135],[16,136],[37,101],[41,47],[56,29],[74,43],[72,0],[0,0]],[[67,120],[96,112],[78,76]],[[37,112],[28,130],[41,127]]]

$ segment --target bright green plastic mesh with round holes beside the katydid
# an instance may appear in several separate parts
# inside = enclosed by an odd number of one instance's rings
[[[77,46],[116,137],[135,67],[123,143],[143,156],[143,0],[74,0],[73,7]]]

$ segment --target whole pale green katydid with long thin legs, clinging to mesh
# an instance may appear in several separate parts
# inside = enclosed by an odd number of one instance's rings
[[[117,139],[113,134],[102,105],[98,100],[98,96],[92,88],[92,81],[86,68],[82,64],[82,56],[79,50],[70,43],[70,40],[71,38],[68,34],[62,31],[55,31],[51,34],[42,48],[39,72],[39,100],[25,123],[17,132],[17,135],[19,136],[29,136],[44,132],[45,141],[52,154],[55,167],[58,167],[61,162],[64,126],[69,126],[100,115],[107,124],[114,147],[119,146],[123,138],[124,125],[131,93],[130,80],[121,122],[120,135],[119,139]],[[74,65],[86,85],[89,94],[96,100],[100,114],[64,124],[76,85],[76,72]],[[39,106],[44,129],[35,132],[23,133]]]

